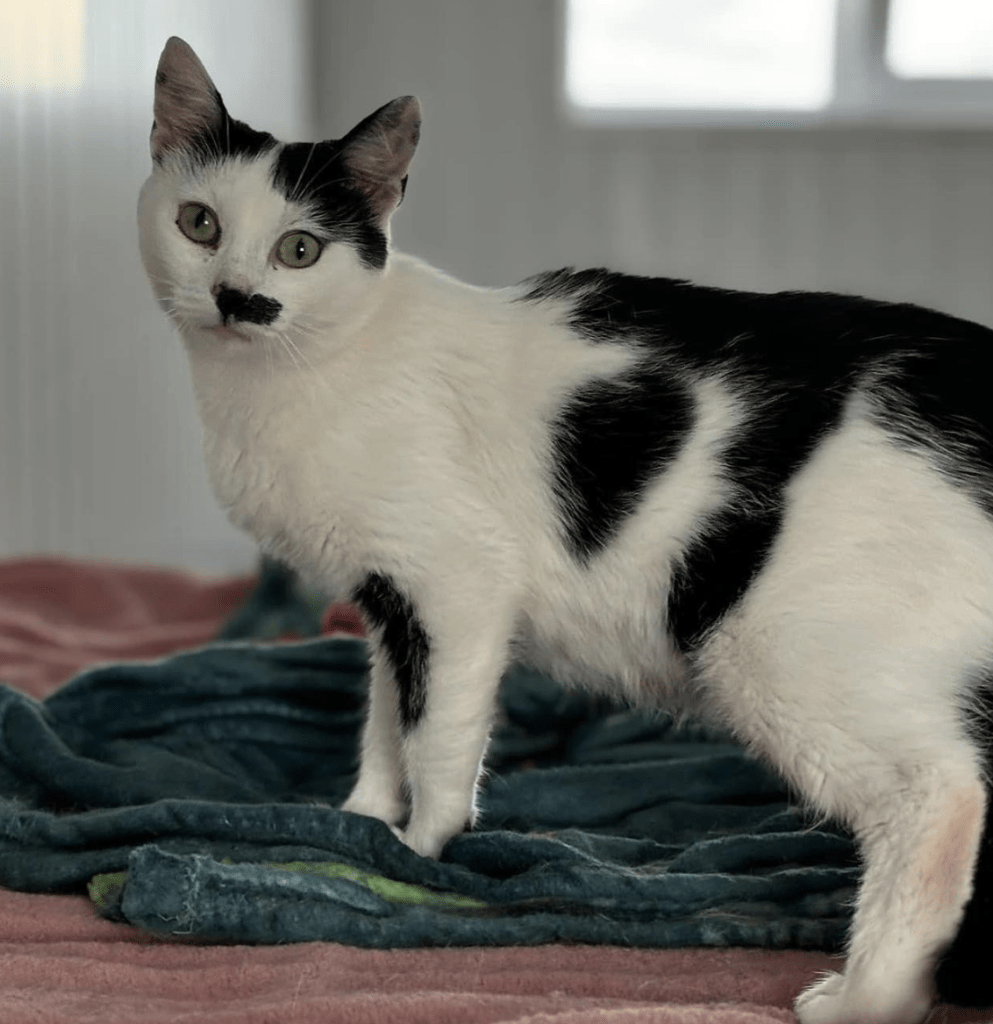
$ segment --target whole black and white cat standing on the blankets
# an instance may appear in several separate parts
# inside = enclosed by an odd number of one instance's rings
[[[985,820],[993,334],[605,270],[464,285],[390,247],[420,118],[285,145],[171,39],[139,206],[219,501],[371,624],[345,809],[437,856],[512,658],[709,714],[864,851],[801,1020],[922,1020]]]

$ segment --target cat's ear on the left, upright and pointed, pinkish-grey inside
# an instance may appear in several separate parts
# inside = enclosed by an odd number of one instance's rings
[[[173,36],[156,71],[152,159],[159,163],[171,150],[189,148],[205,133],[218,131],[224,116],[221,94],[192,47]]]

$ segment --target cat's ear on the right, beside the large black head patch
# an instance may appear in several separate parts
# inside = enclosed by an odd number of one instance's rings
[[[353,188],[384,222],[400,205],[406,172],[421,137],[421,102],[400,96],[356,125],[343,139],[342,160]]]

